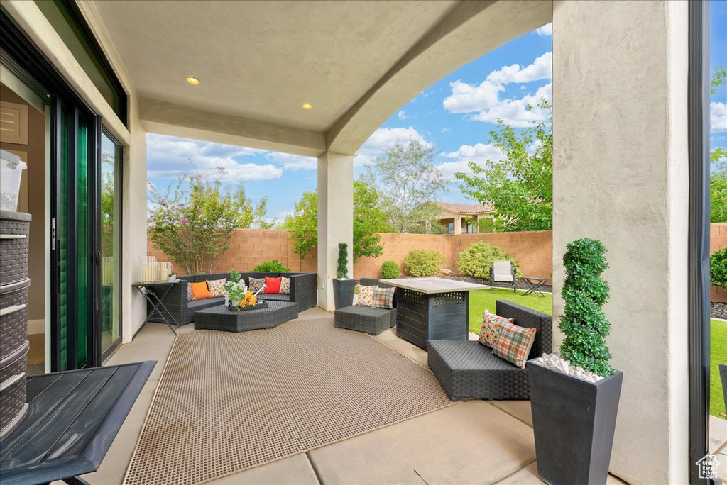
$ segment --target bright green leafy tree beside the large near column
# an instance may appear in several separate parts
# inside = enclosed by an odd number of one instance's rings
[[[544,99],[540,107],[550,110],[551,105]],[[473,175],[454,174],[462,182],[462,192],[480,203],[494,205],[495,231],[553,229],[552,121],[551,115],[547,123],[539,121],[518,134],[498,120],[499,127],[490,131],[490,136],[505,160],[488,160],[485,166],[469,162]],[[534,147],[534,152],[529,153],[529,147]]]

